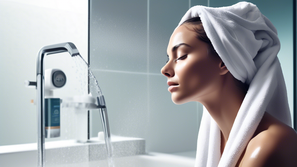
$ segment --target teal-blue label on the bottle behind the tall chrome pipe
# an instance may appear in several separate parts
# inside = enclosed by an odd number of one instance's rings
[[[60,99],[45,100],[45,127],[60,126]]]

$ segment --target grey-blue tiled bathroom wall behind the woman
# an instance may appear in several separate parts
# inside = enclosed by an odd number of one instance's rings
[[[167,78],[161,74],[168,42],[190,7],[238,2],[91,0],[90,65],[105,96],[111,134],[145,138],[146,151],[195,153],[202,105],[172,102]],[[282,45],[278,57],[293,119],[292,1],[248,2],[256,4],[278,30]],[[97,136],[102,131],[100,114],[91,115],[92,136]]]

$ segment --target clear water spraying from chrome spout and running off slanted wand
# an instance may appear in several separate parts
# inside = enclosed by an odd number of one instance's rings
[[[79,57],[80,58],[79,58]],[[83,59],[83,57],[81,56],[81,55],[78,55],[78,56],[73,56],[72,58],[74,59],[74,61],[75,61],[75,64],[76,64],[76,66],[77,66],[77,69],[80,69],[80,74],[79,75],[82,75],[83,73],[82,73],[82,71],[85,71],[86,69],[83,69],[82,67],[81,67],[81,64],[80,64],[80,60],[82,59],[83,60],[83,66],[84,65],[86,65],[85,67],[87,67],[88,68],[88,71],[89,71],[89,73],[91,74],[91,77],[93,78],[93,80],[94,80],[94,82],[95,82],[95,88],[96,88],[96,92],[97,92],[97,95],[98,95],[98,97],[100,97],[100,96],[102,96],[102,92],[101,92],[101,89],[100,89],[100,87],[99,87],[99,84],[98,84],[98,81],[97,81],[97,79],[95,78],[95,76],[94,76],[94,74],[92,73],[92,71],[91,71],[91,68],[90,68],[90,66],[89,66],[89,64],[85,61],[85,59]],[[76,71],[77,73],[78,73],[78,70]],[[83,85],[83,81],[82,81],[82,79],[81,79],[81,76],[80,76],[80,82],[81,82],[81,84]],[[103,108],[102,110],[105,110],[106,111],[106,108]],[[104,125],[103,125],[104,126]],[[106,128],[106,127],[105,127]],[[108,127],[109,128],[109,127]],[[113,163],[113,158],[112,158],[112,151],[113,151],[113,148],[112,148],[112,145],[111,145],[111,140],[110,140],[110,138],[107,136],[107,134],[104,134],[104,136],[105,136],[105,144],[106,144],[106,148],[107,148],[107,154],[108,154],[108,157],[107,157],[107,159],[108,159],[108,166],[109,167],[114,167],[114,163]]]

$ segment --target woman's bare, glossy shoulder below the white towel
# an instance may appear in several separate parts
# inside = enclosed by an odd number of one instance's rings
[[[296,157],[296,131],[277,121],[252,138],[242,160],[242,167],[296,166]]]

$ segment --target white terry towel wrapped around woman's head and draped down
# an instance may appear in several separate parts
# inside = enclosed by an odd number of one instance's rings
[[[194,6],[183,16],[176,29],[187,19],[200,17],[214,49],[230,73],[249,84],[221,158],[221,133],[203,106],[195,167],[234,167],[252,138],[263,114],[292,127],[282,68],[277,57],[280,42],[277,29],[248,2],[228,7]]]

